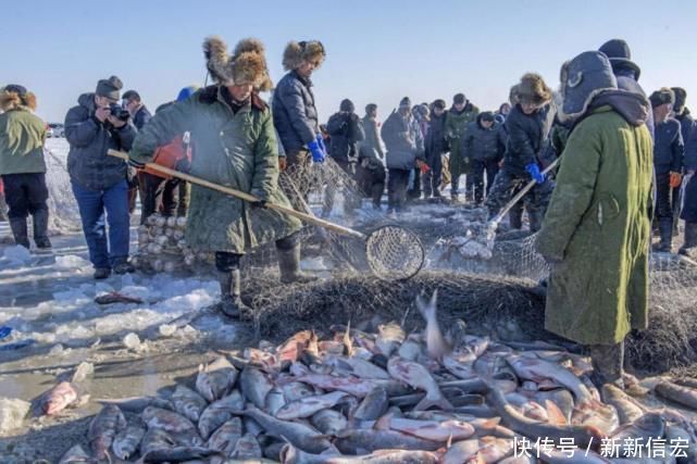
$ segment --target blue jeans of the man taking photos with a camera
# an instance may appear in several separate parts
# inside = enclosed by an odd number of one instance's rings
[[[79,208],[83,231],[89,248],[89,261],[95,267],[107,267],[128,259],[130,218],[128,215],[128,184],[122,180],[107,190],[88,190],[72,183]],[[104,214],[109,222],[109,243]]]

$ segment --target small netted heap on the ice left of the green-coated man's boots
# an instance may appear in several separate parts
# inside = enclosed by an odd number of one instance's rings
[[[184,216],[163,217],[159,213],[148,216],[146,224],[138,228],[138,253],[130,260],[132,264],[145,272],[172,273],[206,262],[209,254],[197,253],[188,247],[185,229]]]

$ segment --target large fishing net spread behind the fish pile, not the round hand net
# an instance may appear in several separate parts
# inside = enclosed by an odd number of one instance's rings
[[[58,141],[49,145],[47,152],[55,233],[79,230],[79,214],[65,168],[66,153]],[[281,338],[298,329],[346,324],[349,319],[368,324],[375,317],[403,321],[416,328],[423,323],[415,316],[414,297],[437,288],[444,324],[462,318],[473,331],[505,339],[555,340],[543,328],[544,296],[537,285],[549,269],[535,250],[535,236],[507,231],[505,221],[493,248],[487,247],[484,209],[438,201],[416,200],[407,212],[387,216],[384,210],[372,209],[353,173],[332,160],[289,170],[281,175],[279,185],[294,209],[365,236],[375,230],[408,230],[418,237],[423,260],[410,256],[400,247],[390,247],[384,253],[391,260],[390,266],[413,265],[419,274],[411,279],[382,280],[369,263],[369,254],[374,252],[370,241],[366,247],[363,239],[306,225],[300,234],[302,267],[331,279],[309,286],[279,286],[273,243],[244,259],[244,274],[253,279],[245,284],[242,296],[258,314],[256,323],[262,336]],[[675,241],[682,243],[682,237]],[[696,326],[697,266],[675,254],[654,253],[649,329],[633,333],[627,339],[630,362],[644,372],[694,366]]]

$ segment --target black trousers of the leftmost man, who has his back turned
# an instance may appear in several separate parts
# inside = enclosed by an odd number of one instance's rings
[[[10,211],[9,218],[25,220],[29,214],[48,211],[49,190],[46,186],[46,174],[4,174],[4,201]]]

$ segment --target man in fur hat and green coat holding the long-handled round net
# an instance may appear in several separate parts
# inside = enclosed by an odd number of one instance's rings
[[[187,243],[215,252],[222,301],[220,309],[237,317],[249,311],[240,300],[239,260],[249,249],[275,240],[283,283],[309,281],[300,272],[298,220],[264,208],[265,202],[290,206],[278,188],[278,146],[271,110],[258,91],[270,87],[263,45],[240,41],[232,55],[216,37],[203,43],[207,65],[216,85],[157,113],[138,133],[129,153],[136,167],[149,162],[154,149],[190,133],[190,174],[249,192],[258,203],[197,185],[191,186]]]

